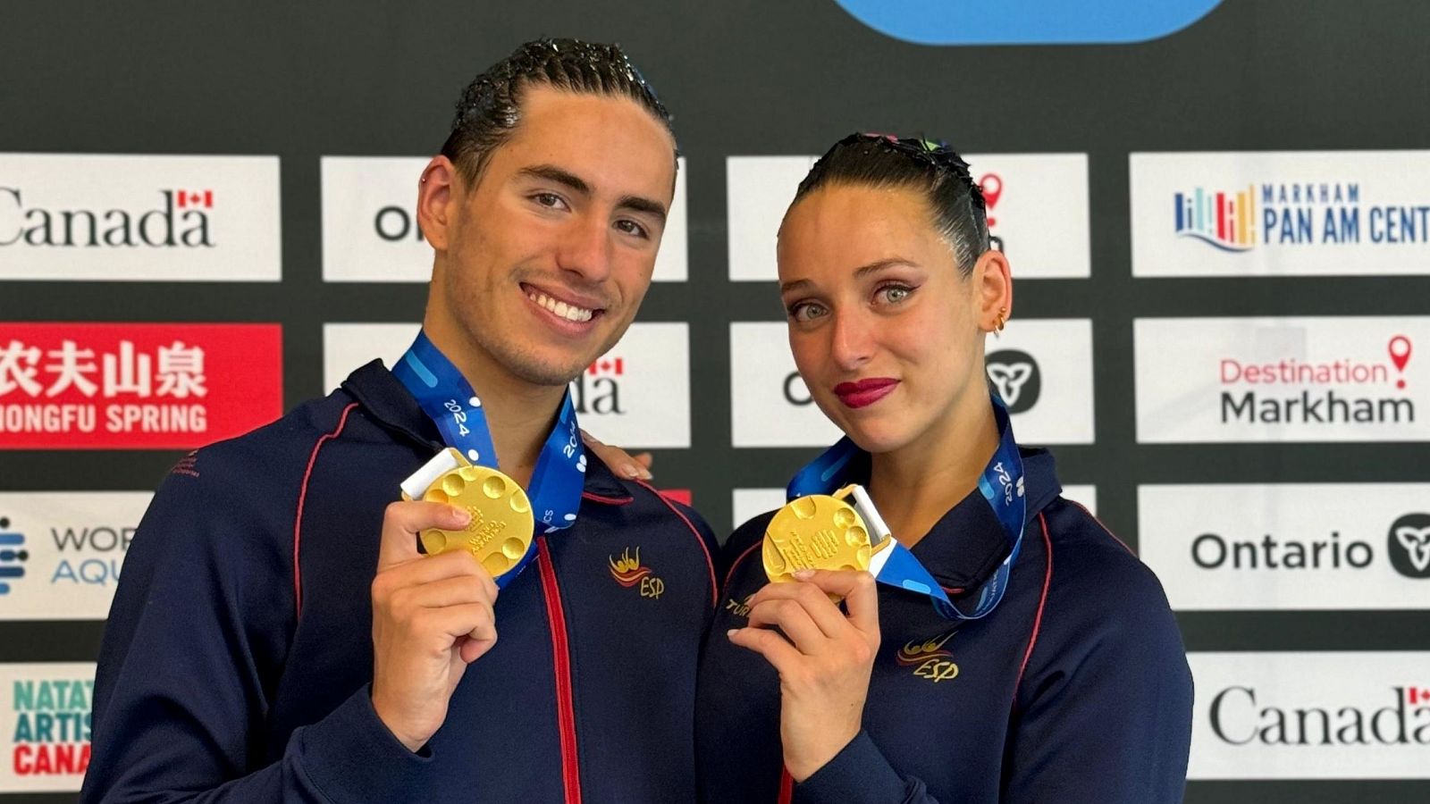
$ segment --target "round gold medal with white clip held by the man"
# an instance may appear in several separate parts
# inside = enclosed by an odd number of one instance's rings
[[[536,532],[532,504],[521,484],[489,466],[476,466],[456,449],[439,452],[402,484],[403,499],[465,508],[472,521],[460,531],[422,531],[428,555],[449,549],[472,554],[492,578],[516,568]]]

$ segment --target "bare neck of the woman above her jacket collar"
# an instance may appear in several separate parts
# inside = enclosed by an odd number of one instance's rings
[[[950,508],[978,486],[998,449],[987,396],[950,412],[917,441],[871,456],[869,496],[904,546],[914,546]]]

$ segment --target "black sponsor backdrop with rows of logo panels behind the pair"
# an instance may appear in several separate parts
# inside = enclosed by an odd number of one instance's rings
[[[66,801],[152,489],[390,361],[452,103],[541,34],[623,43],[682,167],[638,323],[573,383],[721,532],[837,431],[779,217],[854,129],[947,137],[1017,305],[988,379],[1161,577],[1187,798],[1430,798],[1430,72],[1417,0],[0,10],[0,804]]]

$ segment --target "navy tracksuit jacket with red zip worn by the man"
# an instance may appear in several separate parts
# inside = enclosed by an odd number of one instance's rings
[[[430,742],[413,754],[378,720],[382,514],[440,446],[373,362],[176,468],[110,611],[82,800],[694,800],[714,538],[595,456],[576,525],[538,536]],[[636,555],[648,572],[618,578]]]

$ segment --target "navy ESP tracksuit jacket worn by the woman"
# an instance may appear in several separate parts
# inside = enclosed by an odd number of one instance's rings
[[[725,637],[765,585],[771,515],[731,536],[732,565],[701,664],[702,798],[818,804],[1181,801],[1191,674],[1157,578],[1080,505],[1052,456],[1024,451],[1028,515],[1008,592],[975,621],[879,585],[879,652],[864,731],[792,785],[782,773],[779,680]],[[914,545],[941,585],[977,589],[1007,545],[974,491]]]

